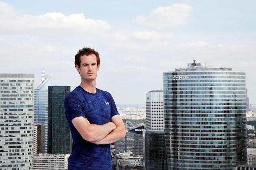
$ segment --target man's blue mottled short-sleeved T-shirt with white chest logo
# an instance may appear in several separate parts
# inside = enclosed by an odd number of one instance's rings
[[[91,124],[110,122],[111,117],[118,114],[110,93],[96,88],[93,94],[78,86],[66,96],[64,107],[73,138],[68,170],[111,170],[110,144],[97,145],[84,140],[71,122],[78,116],[86,117]]]

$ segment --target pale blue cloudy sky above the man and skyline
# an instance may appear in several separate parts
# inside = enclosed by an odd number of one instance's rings
[[[97,88],[117,104],[145,104],[163,89],[163,72],[211,63],[246,73],[256,104],[254,0],[0,1],[0,72],[41,70],[51,85],[73,90],[81,79],[76,52],[99,52]]]

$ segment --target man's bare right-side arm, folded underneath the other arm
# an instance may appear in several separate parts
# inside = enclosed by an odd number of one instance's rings
[[[112,132],[110,132],[102,140],[95,141],[95,142],[92,142],[92,143],[95,143],[95,144],[109,144],[109,143],[113,143],[113,142],[125,137],[125,135],[126,135],[125,125],[123,123],[123,120],[122,120],[121,116],[120,115],[114,115],[111,118],[111,121],[113,123],[115,123],[117,128],[115,128]]]

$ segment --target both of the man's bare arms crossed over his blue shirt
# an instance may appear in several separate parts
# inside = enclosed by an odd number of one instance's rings
[[[125,125],[120,115],[114,115],[112,122],[104,125],[91,124],[86,118],[75,117],[71,122],[80,135],[94,144],[109,144],[125,137]]]

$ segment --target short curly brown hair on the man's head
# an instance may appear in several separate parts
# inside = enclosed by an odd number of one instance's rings
[[[75,64],[78,65],[78,67],[80,67],[80,63],[81,63],[81,56],[88,56],[88,55],[91,55],[91,54],[94,54],[96,55],[96,59],[97,59],[97,66],[99,66],[100,64],[100,57],[99,57],[99,53],[97,51],[95,51],[94,49],[92,48],[82,48],[80,49],[79,51],[77,51],[77,54],[75,56]]]

